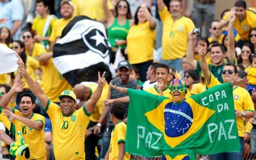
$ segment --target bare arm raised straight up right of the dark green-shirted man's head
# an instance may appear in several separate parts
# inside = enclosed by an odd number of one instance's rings
[[[234,31],[233,31],[234,20],[236,19],[234,10],[235,9],[233,7],[229,14],[228,51],[227,51],[227,56],[228,56],[230,62],[232,62],[232,63],[236,58],[235,44],[234,44]]]

